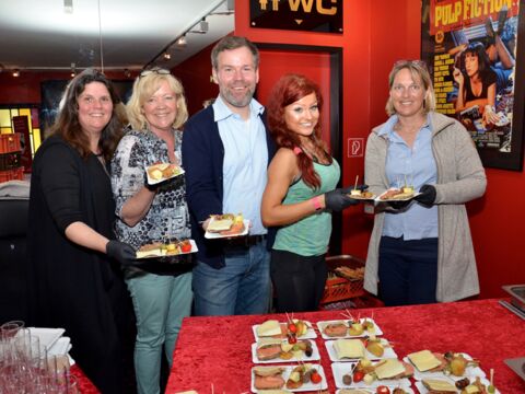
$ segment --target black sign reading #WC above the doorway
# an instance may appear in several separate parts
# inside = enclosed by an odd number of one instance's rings
[[[249,0],[252,27],[342,33],[343,0]]]

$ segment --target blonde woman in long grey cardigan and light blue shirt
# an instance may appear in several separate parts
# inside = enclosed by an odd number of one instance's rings
[[[478,152],[457,120],[434,112],[422,61],[397,62],[388,83],[389,118],[369,136],[365,181],[374,194],[409,184],[421,195],[376,207],[364,288],[386,305],[477,294],[465,202],[487,186]]]

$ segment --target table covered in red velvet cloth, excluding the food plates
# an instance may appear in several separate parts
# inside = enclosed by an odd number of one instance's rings
[[[295,313],[312,323],[342,318],[341,311]],[[489,373],[494,369],[494,385],[501,393],[525,393],[525,382],[504,362],[525,356],[525,321],[498,303],[498,300],[462,301],[430,305],[351,310],[371,316],[395,344],[399,357],[409,352],[463,351],[479,359]],[[269,318],[285,321],[285,315],[186,317],[173,356],[166,393],[195,390],[199,394],[250,392],[252,326]],[[318,335],[322,364],[329,393],[336,386],[324,339]],[[412,384],[412,389],[413,389]],[[417,392],[417,391],[416,391]]]

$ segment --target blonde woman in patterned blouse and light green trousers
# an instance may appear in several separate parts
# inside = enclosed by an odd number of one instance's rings
[[[156,187],[145,169],[163,162],[183,165],[179,128],[188,113],[180,82],[170,71],[151,69],[135,81],[127,105],[131,130],[120,140],[112,162],[116,234],[136,248],[164,240],[190,237],[184,176]],[[137,315],[135,369],[139,393],[160,393],[164,347],[171,366],[182,320],[190,314],[190,255],[155,258],[126,270]]]

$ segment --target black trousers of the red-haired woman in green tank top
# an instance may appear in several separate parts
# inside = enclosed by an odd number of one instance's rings
[[[325,291],[325,255],[300,256],[271,251],[270,274],[278,312],[316,311]]]

